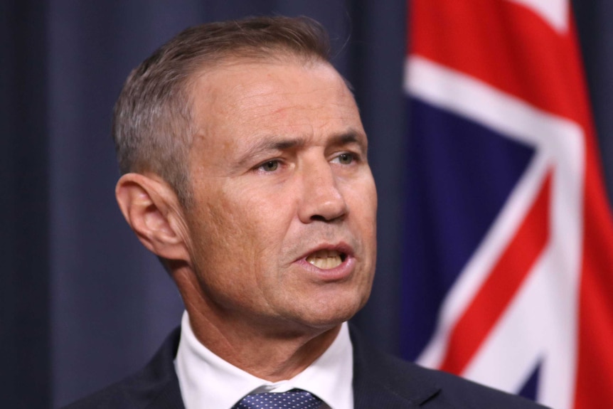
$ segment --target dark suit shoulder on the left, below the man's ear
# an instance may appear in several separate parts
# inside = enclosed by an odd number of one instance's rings
[[[63,409],[183,408],[174,371],[180,336],[174,330],[151,361],[137,373]]]

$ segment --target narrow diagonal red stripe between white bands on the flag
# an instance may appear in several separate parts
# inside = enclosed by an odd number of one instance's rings
[[[550,191],[551,174],[548,174],[516,236],[452,329],[440,366],[443,371],[464,371],[543,253],[550,231]]]

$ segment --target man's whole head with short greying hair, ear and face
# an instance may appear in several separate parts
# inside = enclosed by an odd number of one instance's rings
[[[185,49],[196,53],[193,36],[199,47],[213,42],[196,31],[230,41],[233,25],[268,33],[277,23],[292,28],[297,43],[316,46],[294,48],[260,33],[263,43],[233,50],[224,42],[214,58],[179,68]],[[115,129],[125,127],[122,112],[151,104],[140,100],[152,94],[176,105],[169,112],[178,117],[130,114],[136,125],[125,137],[141,134],[123,156],[119,142],[120,161],[133,164],[122,165],[129,173],[117,199],[142,243],[167,260],[192,324],[209,333],[331,329],[368,299],[377,206],[368,142],[353,95],[326,60],[322,33],[286,18],[193,28],[145,63],[176,59],[180,90],[166,96],[161,86],[150,92],[151,84],[122,92],[134,102],[125,110],[119,102]],[[132,81],[149,69],[137,68]],[[140,144],[147,153],[131,154]]]

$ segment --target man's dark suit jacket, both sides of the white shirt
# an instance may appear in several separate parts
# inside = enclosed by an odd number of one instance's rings
[[[179,329],[138,373],[65,409],[184,409],[174,371]],[[351,328],[356,409],[537,409],[531,401],[371,348]],[[206,408],[202,408],[206,409]]]

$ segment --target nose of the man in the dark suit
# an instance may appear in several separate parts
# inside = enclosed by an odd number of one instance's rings
[[[329,222],[346,216],[348,206],[339,190],[339,179],[328,161],[305,166],[302,179],[302,203],[299,206],[302,223]]]

